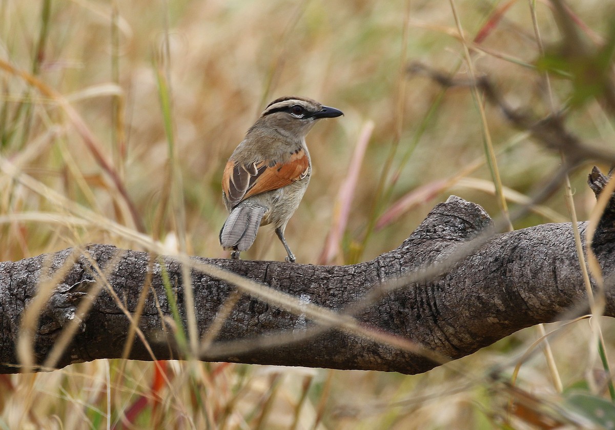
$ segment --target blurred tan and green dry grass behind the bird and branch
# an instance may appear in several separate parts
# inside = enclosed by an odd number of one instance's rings
[[[532,0],[0,1],[1,261],[89,242],[147,249],[97,217],[169,253],[224,257],[226,157],[281,95],[345,114],[308,137],[314,173],[287,228],[301,263],[352,263],[394,249],[450,194],[498,217],[549,181],[560,154],[514,129],[480,92],[443,89],[409,76],[407,65],[485,74],[515,108],[536,119],[566,109],[569,130],[611,148],[613,106],[603,95],[613,82],[615,4],[568,6],[566,30],[550,2]],[[371,122],[367,152],[352,165]],[[590,165],[570,172],[579,220],[595,202],[585,185]],[[354,193],[340,198],[353,169]],[[512,226],[570,219],[563,187],[541,205]],[[342,207],[350,215],[340,223]],[[324,257],[328,243],[334,252]],[[284,249],[264,228],[246,257],[282,260]],[[2,375],[0,428],[606,427],[615,327],[600,324],[603,362],[587,321],[552,324],[551,370],[534,354],[514,379],[515,357],[540,336],[534,328],[459,360],[461,374],[99,360]],[[515,389],[526,396],[516,408]]]

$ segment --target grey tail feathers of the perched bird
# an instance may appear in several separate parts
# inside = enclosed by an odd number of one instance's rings
[[[249,203],[235,207],[220,230],[220,245],[234,251],[247,250],[256,239],[265,212],[263,206]]]

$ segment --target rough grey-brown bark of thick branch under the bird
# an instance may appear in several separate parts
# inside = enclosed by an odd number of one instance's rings
[[[590,186],[599,194],[606,179],[597,171],[592,175]],[[593,241],[607,287],[613,274],[613,213],[611,202]],[[435,352],[425,356],[421,351],[392,346],[394,343],[383,343],[342,327],[315,330],[318,325],[309,317],[242,293],[200,359],[420,373],[440,364],[436,355],[457,359],[521,328],[569,319],[587,311],[570,223],[502,234],[488,233],[491,225],[491,219],[478,205],[451,197],[438,204],[399,248],[357,265],[192,258],[263,282],[301,298],[302,303],[339,313],[352,311],[368,331],[394,335]],[[579,223],[583,239],[586,226]],[[1,373],[19,371],[15,344],[22,314],[34,303],[39,280],[52,277],[71,252],[67,249],[0,263]],[[127,310],[134,313],[137,308],[146,285],[150,255],[111,245],[89,245],[87,254],[88,258],[81,255],[72,263],[40,314],[33,344],[36,364],[44,362],[62,328],[73,318],[79,301],[92,290],[92,260],[103,271],[109,271],[108,283]],[[158,263],[164,261],[185,324],[181,266],[172,257],[157,257],[155,261],[138,327],[157,359],[181,358],[181,348],[170,334],[172,306]],[[113,267],[108,267],[109,262]],[[191,282],[199,336],[204,336],[237,287],[196,269],[191,270]],[[383,285],[390,288],[395,283],[402,286],[382,292]],[[365,298],[371,301],[361,305]],[[605,315],[615,316],[615,300],[608,288]],[[116,299],[109,290],[101,289],[57,367],[121,357],[129,327],[129,319]],[[290,341],[276,343],[280,335],[290,335]],[[229,344],[239,344],[240,348],[225,348]],[[138,337],[129,358],[153,359]]]

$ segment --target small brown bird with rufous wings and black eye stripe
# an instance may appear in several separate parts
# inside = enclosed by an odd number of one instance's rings
[[[305,97],[280,97],[269,103],[231,154],[222,175],[222,199],[229,211],[220,245],[239,259],[272,224],[284,245],[285,261],[295,263],[284,231],[308,188],[312,164],[306,135],[323,118],[343,115]]]

